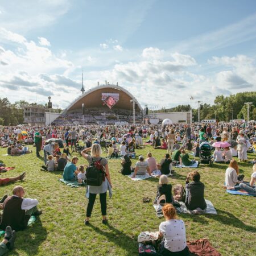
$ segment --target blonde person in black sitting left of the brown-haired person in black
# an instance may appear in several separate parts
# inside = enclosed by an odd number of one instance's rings
[[[166,200],[162,201],[160,196],[165,195]],[[156,197],[154,200],[154,204],[160,203],[174,203],[174,199],[172,197],[172,185],[168,184],[168,177],[166,175],[161,175],[159,178],[158,191],[156,192]]]

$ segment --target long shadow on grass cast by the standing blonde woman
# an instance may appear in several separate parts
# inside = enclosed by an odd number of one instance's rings
[[[134,255],[137,252],[137,241],[127,236],[127,234],[114,228],[111,225],[108,226],[110,232],[101,230],[96,226],[90,225],[98,234],[105,236],[110,242],[114,242],[118,247],[122,247],[123,250],[127,251],[127,255]],[[129,245],[129,246],[128,246]],[[134,246],[131,246],[134,245]]]

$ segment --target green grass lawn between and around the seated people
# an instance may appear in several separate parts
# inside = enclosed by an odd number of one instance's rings
[[[15,167],[1,177],[12,177],[26,171],[22,182],[26,197],[39,200],[43,214],[36,223],[17,233],[15,250],[9,255],[138,255],[137,236],[142,231],[158,230],[163,218],[156,217],[152,204],[142,203],[143,197],[154,199],[158,179],[133,181],[118,173],[120,160],[109,160],[113,183],[113,197],[108,197],[109,225],[101,222],[100,201],[96,199],[90,226],[84,225],[88,200],[85,188],[70,188],[58,180],[60,172],[42,172],[43,158],[32,154],[2,156],[6,148],[0,148],[0,159],[8,167]],[[146,146],[137,155],[151,152],[160,161],[166,153]],[[43,152],[41,152],[43,155]],[[105,155],[105,154],[104,154]],[[249,155],[252,159],[254,156]],[[133,160],[135,163],[136,160]],[[86,164],[79,157],[78,164]],[[222,255],[256,255],[256,198],[230,195],[222,189],[225,164],[211,168],[200,166],[201,181],[205,184],[205,198],[212,201],[218,215],[189,216],[179,214],[187,229],[187,240],[208,238]],[[175,176],[168,178],[172,185],[184,184],[188,168],[175,168]],[[252,166],[240,164],[245,180],[250,180]],[[1,187],[0,196],[11,195],[14,184]]]

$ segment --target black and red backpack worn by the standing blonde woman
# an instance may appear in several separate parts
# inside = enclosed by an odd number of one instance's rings
[[[101,164],[101,159],[98,161],[92,159],[93,161],[86,168],[86,185],[100,186],[105,181],[106,172],[104,166]]]

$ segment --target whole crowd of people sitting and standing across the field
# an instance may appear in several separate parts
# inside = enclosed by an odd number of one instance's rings
[[[163,237],[160,251],[162,255],[173,255],[174,252],[180,252],[175,255],[188,255],[184,222],[177,220],[174,207],[176,200],[172,195],[172,185],[169,184],[167,175],[174,175],[172,167],[177,164],[189,167],[195,163],[194,158],[200,156],[200,146],[208,143],[213,151],[211,157],[214,162],[229,164],[226,169],[224,188],[243,189],[251,195],[256,195],[256,162],[254,159],[252,161],[247,159],[247,152],[256,152],[255,131],[255,123],[247,125],[240,123],[211,123],[210,125],[178,123],[170,126],[3,127],[0,131],[0,146],[7,148],[7,154],[16,155],[32,152],[28,150],[28,147],[32,147],[31,144],[34,143],[39,160],[40,154],[43,152],[42,171],[63,171],[65,181],[85,183],[85,180],[88,179],[87,171],[85,171],[85,166],[77,166],[79,156],[76,153],[76,148],[82,143],[84,146],[80,151],[81,157],[88,161],[89,167],[95,164],[99,170],[102,168],[102,174],[104,174],[100,185],[86,186],[88,205],[85,225],[90,224],[97,194],[100,195],[102,223],[108,224],[106,192],[112,191],[109,159],[121,158],[120,172],[123,175],[132,175],[131,177],[134,178],[138,175],[159,174],[159,185],[154,203],[161,203],[164,195],[163,215],[166,218],[166,221],[159,226],[160,236]],[[149,139],[144,143],[143,138]],[[220,146],[214,147],[214,143],[220,143],[218,144]],[[63,148],[60,147],[61,144],[64,145]],[[147,155],[139,155],[139,150],[146,146],[148,148]],[[163,158],[159,163],[152,154],[153,149],[163,150]],[[105,151],[106,158],[102,156],[102,151]],[[135,158],[136,155],[138,161],[133,167],[131,158]],[[234,156],[238,156],[238,162]],[[253,164],[250,182],[243,181],[245,177],[239,175],[239,162]],[[0,179],[0,185],[23,180],[25,175],[26,173],[23,173],[17,177]],[[200,181],[200,173],[198,171],[189,172],[184,185],[184,203],[187,209],[200,208],[204,211],[207,204],[204,199],[205,186]],[[1,229],[6,230],[6,235],[0,244],[0,255],[13,248],[15,232],[26,228],[31,216],[42,214],[37,205],[38,200],[24,198],[24,189],[19,185],[14,187],[12,196],[3,198],[0,204],[3,209]]]

